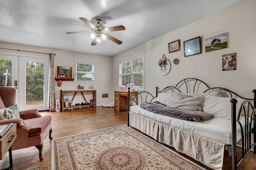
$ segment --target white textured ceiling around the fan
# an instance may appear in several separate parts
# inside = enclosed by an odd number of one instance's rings
[[[242,0],[0,0],[0,41],[114,56]],[[92,46],[79,17],[105,27],[124,25]],[[101,49],[98,49],[98,46]],[[50,51],[49,51],[50,52]]]

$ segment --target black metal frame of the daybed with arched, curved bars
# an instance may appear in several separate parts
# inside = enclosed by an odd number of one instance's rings
[[[237,166],[240,164],[240,162],[242,162],[242,160],[244,159],[244,157],[251,151],[251,149],[253,148],[253,152],[254,154],[256,154],[256,90],[252,90],[252,92],[254,93],[254,98],[250,99],[250,98],[244,98],[242,96],[240,96],[239,94],[228,90],[226,88],[221,88],[221,87],[214,87],[214,88],[210,88],[210,86],[208,86],[208,84],[206,84],[205,82],[203,82],[202,80],[199,80],[197,78],[186,78],[184,80],[181,80],[180,82],[178,82],[178,84],[176,86],[168,86],[166,88],[164,88],[163,90],[161,90],[160,92],[158,92],[158,87],[156,87],[156,96],[154,97],[150,92],[139,92],[136,96],[134,96],[133,98],[130,98],[130,88],[128,88],[128,126],[130,126],[130,101],[134,102],[136,105],[138,105],[138,103],[143,103],[143,102],[152,102],[157,96],[158,93],[164,93],[164,92],[168,92],[169,90],[171,90],[172,92],[179,92],[182,93],[181,90],[179,90],[180,87],[184,86],[186,93],[198,93],[199,90],[199,86],[203,85],[205,86],[206,90],[202,91],[202,93],[209,93],[211,91],[214,90],[221,90],[222,92],[226,92],[228,94],[228,97],[232,98],[230,100],[231,103],[231,112],[232,112],[232,145],[225,145],[224,150],[227,150],[229,155],[232,156],[232,170],[236,170]],[[233,98],[233,96],[238,97],[238,98],[242,98],[245,99],[245,101],[243,102],[242,106],[240,107],[238,116],[236,117],[236,103],[237,100],[235,98]],[[136,98],[139,98],[140,100],[138,100],[139,102],[137,103],[137,101],[135,100]],[[253,105],[251,103],[251,101],[253,100]],[[243,129],[242,124],[240,123],[240,116],[241,113],[244,113],[244,119],[245,119],[245,129]],[[236,122],[238,122],[241,132],[242,132],[242,156],[241,158],[239,158],[239,160],[237,161],[237,155],[236,155],[236,149],[237,149],[237,141],[236,141]],[[253,143],[251,143],[252,140],[252,135],[251,134],[255,134],[254,138],[253,138]],[[237,163],[238,162],[238,163]]]

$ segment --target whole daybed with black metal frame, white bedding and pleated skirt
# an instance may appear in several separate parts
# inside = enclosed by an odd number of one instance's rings
[[[129,93],[128,126],[210,168],[222,169],[224,150],[232,155],[233,170],[252,147],[256,153],[256,135],[251,138],[256,131],[256,90],[254,99],[243,98],[226,88],[210,88],[201,80],[186,78],[160,92],[156,88],[156,96],[140,92],[130,98]],[[134,100],[138,97],[139,104]],[[238,164],[237,141],[242,143]]]

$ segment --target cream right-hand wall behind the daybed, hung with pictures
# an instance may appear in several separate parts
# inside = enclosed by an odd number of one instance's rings
[[[145,90],[155,94],[155,87],[174,86],[184,78],[199,78],[211,87],[223,87],[253,98],[256,89],[256,7],[255,0],[245,0],[210,16],[190,23],[170,33],[143,43],[113,57],[113,70],[119,61],[145,52]],[[228,32],[229,47],[205,53],[204,39]],[[201,37],[202,53],[184,57],[183,41]],[[180,39],[181,50],[168,53],[168,43]],[[222,71],[222,55],[237,53],[237,70]],[[171,61],[170,73],[160,76],[158,60],[165,54]],[[180,63],[175,65],[173,60]],[[118,89],[118,80],[113,80]]]

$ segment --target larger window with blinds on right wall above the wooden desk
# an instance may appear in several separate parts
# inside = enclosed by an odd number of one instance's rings
[[[144,90],[144,55],[119,63],[119,86],[134,83],[134,90]]]

